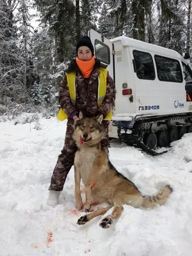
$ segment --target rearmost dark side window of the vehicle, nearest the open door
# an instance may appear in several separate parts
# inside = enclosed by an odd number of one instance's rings
[[[132,51],[134,57],[134,68],[139,79],[154,80],[156,73],[154,61],[148,52]]]

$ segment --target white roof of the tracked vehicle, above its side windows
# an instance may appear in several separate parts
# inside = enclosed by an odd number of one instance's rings
[[[177,58],[177,59],[184,60],[184,58],[177,51],[173,51],[171,49],[167,49],[159,45],[149,44],[149,43],[136,40],[127,36],[119,36],[111,39],[110,41],[116,42],[119,40],[122,42],[122,45],[125,47],[130,46],[130,47],[140,49],[140,51],[143,49],[143,51],[155,52],[156,54],[166,55],[166,56],[169,56],[170,58]]]

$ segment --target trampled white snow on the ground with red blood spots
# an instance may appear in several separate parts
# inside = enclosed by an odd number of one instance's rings
[[[66,122],[53,117],[30,124],[0,122],[0,255],[191,255],[192,161],[184,157],[192,159],[192,134],[175,141],[170,152],[154,157],[112,141],[109,159],[143,195],[154,195],[164,184],[170,184],[173,193],[155,209],[124,205],[120,218],[103,229],[99,222],[104,216],[76,224],[84,213],[75,208],[73,168],[60,204],[46,205],[65,129]],[[82,193],[84,200],[83,186]]]

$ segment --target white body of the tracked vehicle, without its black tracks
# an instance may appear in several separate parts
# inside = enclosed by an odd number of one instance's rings
[[[109,46],[110,62],[107,64],[116,88],[113,121],[192,111],[192,101],[186,100],[185,87],[186,68],[189,69],[189,65],[178,52],[126,36],[108,40],[92,29],[89,36],[95,45],[96,58],[102,44]],[[103,58],[106,63],[104,52]],[[102,56],[99,59],[102,61]],[[138,63],[145,70],[145,64],[151,66],[147,75],[150,79],[138,68]],[[169,67],[166,67],[167,64]],[[123,95],[123,90],[127,89],[131,89],[131,94]],[[111,125],[109,137],[118,138],[117,127]]]

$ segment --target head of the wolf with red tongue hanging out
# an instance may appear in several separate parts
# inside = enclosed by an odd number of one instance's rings
[[[88,118],[79,113],[79,121],[74,124],[73,138],[77,147],[93,146],[100,142],[104,134],[104,127],[101,125],[103,116]]]

